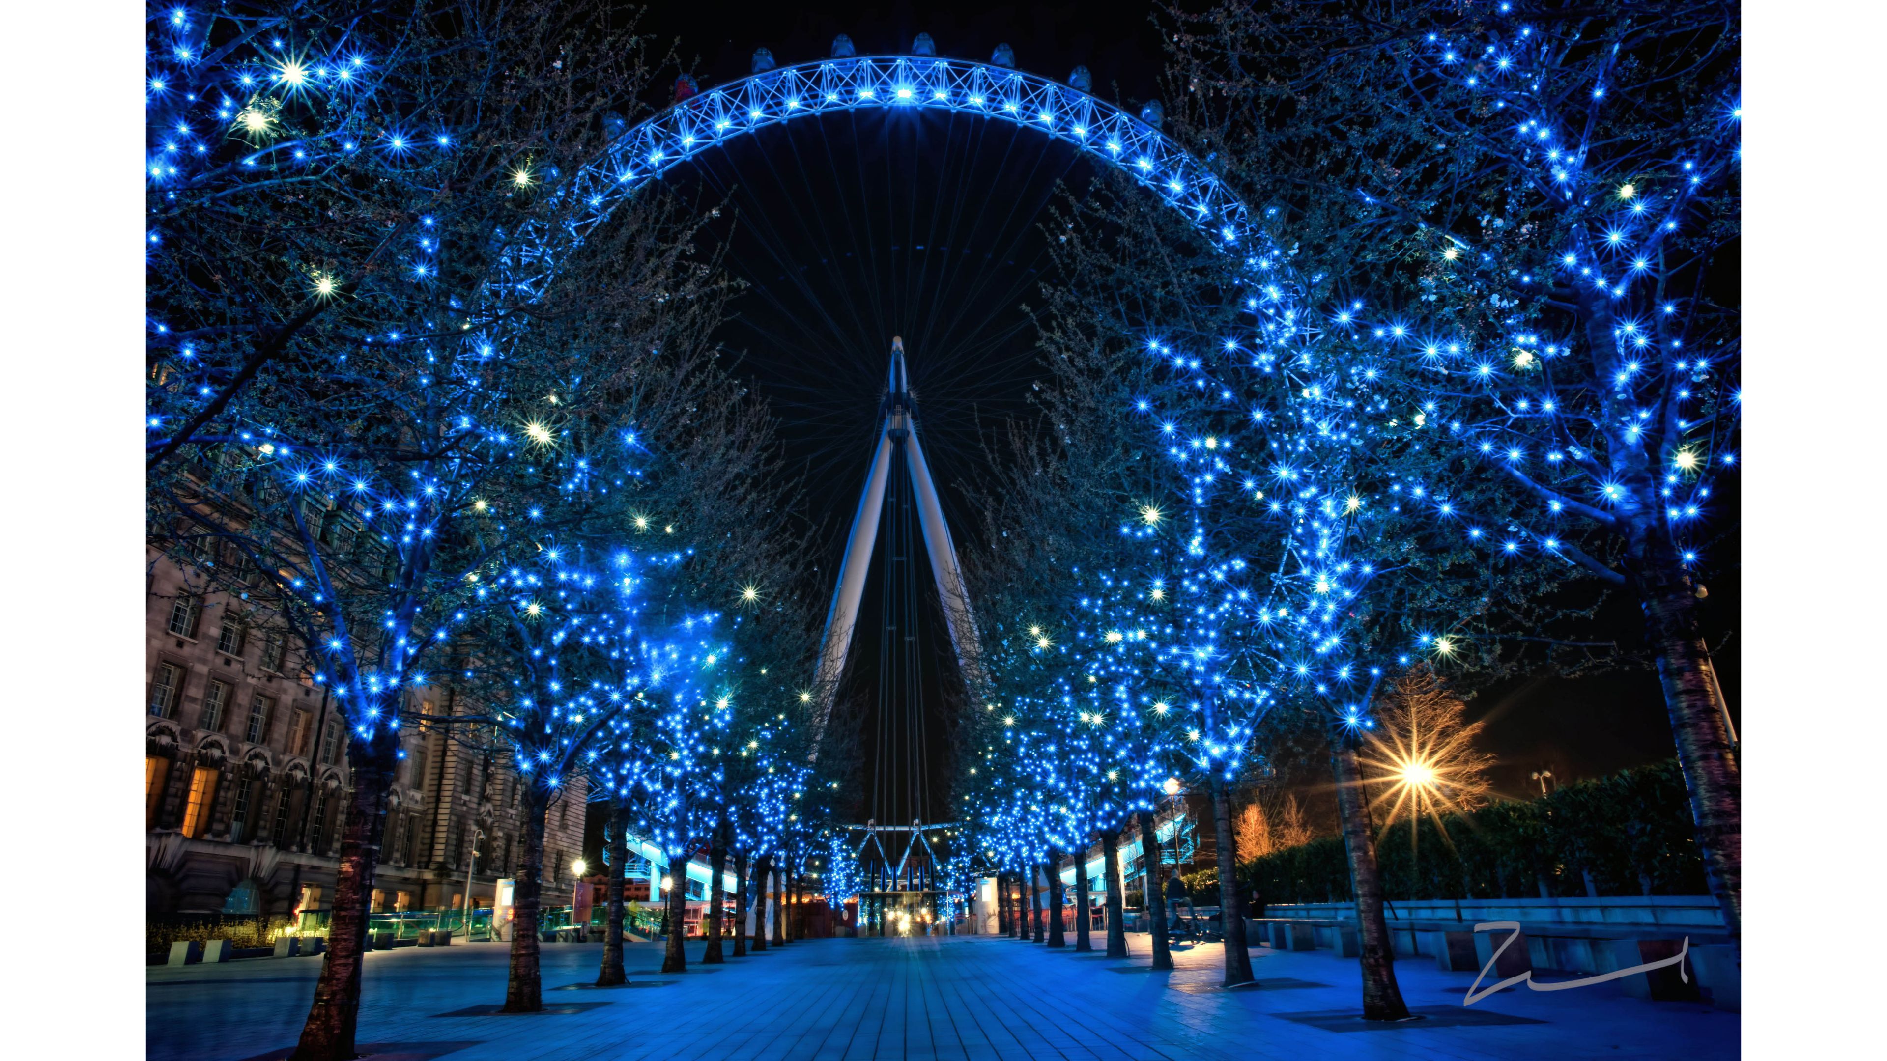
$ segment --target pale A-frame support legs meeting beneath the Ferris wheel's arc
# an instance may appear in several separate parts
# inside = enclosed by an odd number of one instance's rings
[[[877,447],[872,451],[872,468],[864,480],[864,493],[859,497],[859,512],[851,519],[845,563],[838,572],[832,608],[827,612],[825,642],[819,649],[815,691],[819,702],[813,710],[815,757],[859,625],[859,598],[864,595],[864,574],[872,563],[872,549],[877,546],[877,525],[885,512],[885,483],[891,478],[891,463],[900,455],[917,495],[917,519],[925,534],[925,551],[930,553],[930,576],[936,580],[938,598],[944,602],[944,623],[957,651],[957,665],[962,668],[962,680],[972,695],[979,695],[983,689],[976,615],[970,612],[970,598],[962,587],[962,566],[957,563],[957,546],[951,544],[949,527],[944,523],[944,506],[938,500],[936,483],[930,480],[930,463],[925,461],[925,447],[917,438],[917,412],[911,404],[910,378],[904,372],[904,340],[893,338]]]

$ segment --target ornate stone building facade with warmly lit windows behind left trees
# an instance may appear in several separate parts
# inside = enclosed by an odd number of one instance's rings
[[[151,555],[145,629],[145,910],[289,914],[334,899],[347,740],[281,634],[249,631],[221,595],[192,597]],[[417,716],[470,714],[451,689],[409,693]],[[406,727],[374,880],[376,910],[491,906],[523,853],[517,776],[464,725]],[[583,850],[579,778],[551,804],[545,902]],[[474,853],[476,851],[476,853]]]

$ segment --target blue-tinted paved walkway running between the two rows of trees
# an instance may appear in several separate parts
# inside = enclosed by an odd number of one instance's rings
[[[368,959],[360,1042],[376,1061],[1738,1055],[1736,1014],[1645,1002],[1615,984],[1508,989],[1462,1008],[1474,974],[1406,959],[1396,978],[1425,1019],[1368,1025],[1351,1016],[1355,959],[1253,948],[1262,985],[1223,991],[1217,944],[1179,952],[1170,974],[1145,968],[1145,936],[1128,946],[1130,959],[1110,961],[1000,936],[802,940],[660,976],[660,946],[630,944],[630,980],[645,987],[547,989],[559,1012],[532,1016],[460,1016],[504,1001],[506,946],[402,948]],[[547,944],[545,987],[594,980],[600,957],[600,944]],[[300,1031],[319,961],[151,968],[151,1061],[279,1057]]]

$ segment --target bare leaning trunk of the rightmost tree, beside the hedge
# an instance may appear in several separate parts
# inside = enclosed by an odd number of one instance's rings
[[[1651,570],[1634,583],[1645,615],[1645,640],[1657,653],[1664,685],[1664,710],[1678,744],[1683,783],[1691,791],[1696,848],[1704,880],[1723,910],[1723,927],[1742,948],[1744,935],[1744,782],[1730,746],[1727,706],[1717,695],[1710,649],[1696,629],[1696,597],[1691,580],[1664,544],[1647,551]],[[1662,553],[1672,553],[1664,557]],[[1666,563],[1657,563],[1657,561]]]

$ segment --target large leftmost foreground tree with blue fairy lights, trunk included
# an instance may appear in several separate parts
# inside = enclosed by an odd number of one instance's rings
[[[477,615],[468,576],[581,521],[557,504],[572,480],[600,497],[632,476],[559,480],[536,459],[583,415],[572,385],[645,398],[657,430],[664,410],[730,400],[713,374],[670,370],[700,353],[725,287],[659,194],[566,247],[559,283],[491,283],[508,234],[562,210],[557,174],[600,149],[643,68],[593,11],[481,15],[147,17],[151,546],[304,644],[349,729],[304,1059],[353,1055],[398,716]],[[511,74],[494,83],[493,64]]]

